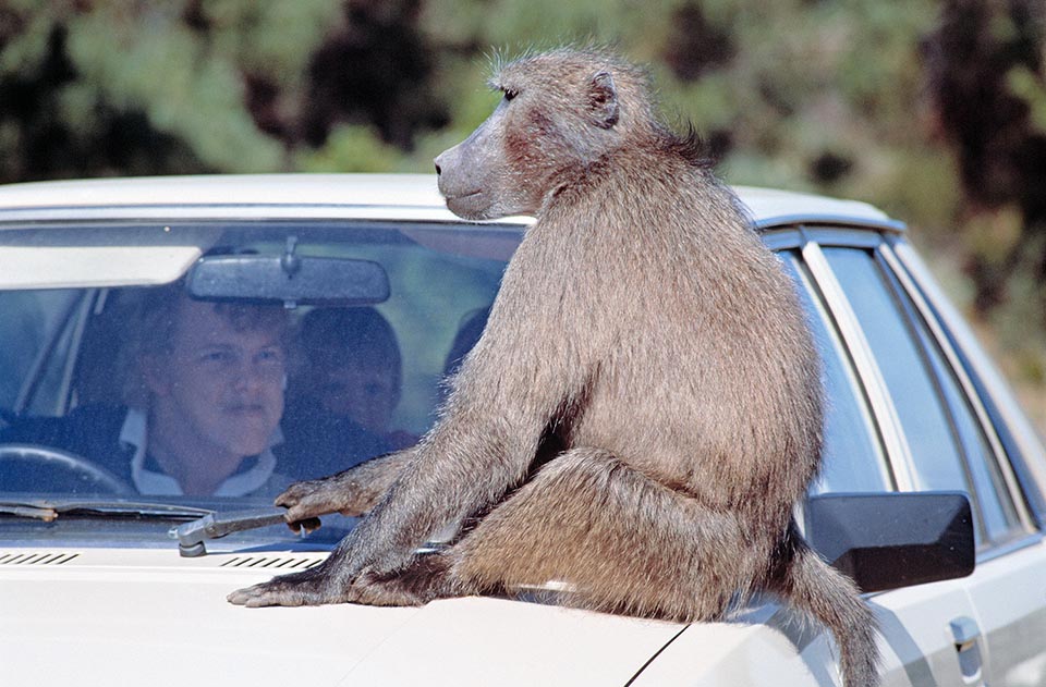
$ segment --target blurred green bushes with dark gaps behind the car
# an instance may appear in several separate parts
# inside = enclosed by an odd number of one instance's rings
[[[567,42],[648,63],[729,181],[910,221],[1046,395],[1042,0],[0,0],[0,182],[428,172],[492,61]]]

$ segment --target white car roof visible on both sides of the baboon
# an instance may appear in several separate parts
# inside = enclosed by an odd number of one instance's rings
[[[834,223],[899,231],[855,200],[735,186],[755,224]],[[338,218],[455,221],[434,174],[255,174],[94,179],[0,185],[0,219]],[[525,218],[501,223],[520,224]]]

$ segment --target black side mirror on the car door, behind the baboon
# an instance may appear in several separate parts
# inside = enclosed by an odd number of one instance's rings
[[[976,561],[970,500],[960,492],[812,496],[806,540],[862,591],[965,577]]]

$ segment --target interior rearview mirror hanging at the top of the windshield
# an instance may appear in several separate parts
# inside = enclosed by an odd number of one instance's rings
[[[295,305],[369,305],[389,297],[385,269],[370,260],[254,254],[207,255],[186,289],[202,300],[278,300]]]

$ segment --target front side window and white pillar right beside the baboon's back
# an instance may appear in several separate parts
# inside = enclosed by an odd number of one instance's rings
[[[824,458],[811,491],[889,491],[892,487],[883,450],[846,347],[831,326],[813,279],[799,256],[786,252],[781,258],[799,287],[822,358],[825,387]]]

